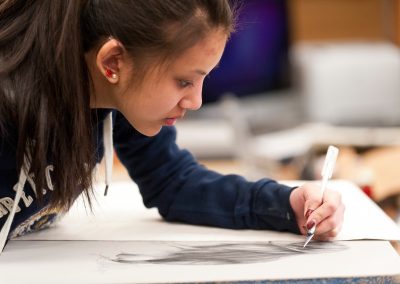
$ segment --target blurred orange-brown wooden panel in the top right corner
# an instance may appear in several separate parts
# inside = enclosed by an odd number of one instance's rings
[[[398,0],[289,0],[291,38],[298,41],[400,39]]]

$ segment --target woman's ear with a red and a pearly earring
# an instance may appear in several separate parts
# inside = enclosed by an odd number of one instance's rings
[[[116,84],[119,81],[120,71],[123,65],[123,53],[123,45],[116,39],[110,39],[105,42],[97,52],[97,68],[111,84]]]

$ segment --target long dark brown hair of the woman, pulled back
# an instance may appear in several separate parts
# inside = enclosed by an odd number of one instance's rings
[[[52,207],[82,191],[90,202],[95,148],[85,52],[118,39],[142,73],[213,28],[233,30],[228,0],[3,0],[0,2],[0,133],[15,136],[43,199],[54,165]],[[15,131],[15,133],[13,133]],[[13,135],[11,135],[11,134]]]

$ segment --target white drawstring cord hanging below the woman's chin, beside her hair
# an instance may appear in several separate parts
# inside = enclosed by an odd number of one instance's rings
[[[104,195],[107,195],[108,186],[111,183],[111,175],[113,168],[113,137],[112,137],[112,112],[107,115],[103,125],[103,143],[104,143],[104,159],[106,168],[106,189]]]

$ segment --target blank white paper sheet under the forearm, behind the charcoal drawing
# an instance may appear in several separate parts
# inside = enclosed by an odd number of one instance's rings
[[[299,185],[301,181],[286,181]],[[400,228],[357,186],[348,181],[330,181],[328,186],[342,194],[346,206],[342,231],[336,240],[400,240]],[[228,230],[167,223],[156,209],[143,206],[133,182],[113,183],[108,196],[101,194],[94,214],[78,200],[54,228],[16,240],[183,240],[183,241],[270,241],[299,240],[303,236],[274,231]]]

